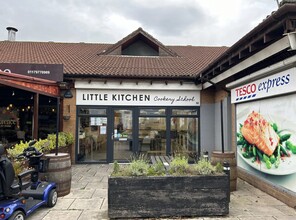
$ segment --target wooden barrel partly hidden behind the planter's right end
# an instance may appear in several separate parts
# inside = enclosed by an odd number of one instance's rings
[[[227,161],[230,166],[230,191],[236,190],[236,182],[237,182],[237,163],[235,158],[235,153],[230,152],[224,152],[221,151],[213,151],[211,156],[211,163],[213,165],[216,165],[217,163],[221,163],[223,165],[223,162]]]

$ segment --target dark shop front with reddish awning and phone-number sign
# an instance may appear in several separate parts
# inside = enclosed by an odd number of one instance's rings
[[[0,143],[11,147],[56,132],[62,73],[62,65],[0,64]]]

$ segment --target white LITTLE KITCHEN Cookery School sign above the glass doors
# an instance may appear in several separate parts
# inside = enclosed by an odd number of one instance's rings
[[[199,91],[79,89],[77,105],[199,106]]]

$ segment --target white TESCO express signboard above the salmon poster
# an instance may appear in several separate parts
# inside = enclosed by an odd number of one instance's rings
[[[296,91],[296,68],[256,80],[231,90],[231,103],[246,102]]]

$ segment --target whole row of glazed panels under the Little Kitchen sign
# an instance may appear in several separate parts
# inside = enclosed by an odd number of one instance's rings
[[[113,109],[109,116],[105,108],[79,109],[78,161],[105,162],[108,153],[112,154],[113,161],[128,161],[135,153],[167,155],[168,150],[171,154],[188,155],[192,159],[197,156],[199,122],[196,110],[177,109],[174,111],[176,116],[168,117],[165,108],[141,108],[139,117],[134,118],[136,109]],[[167,131],[168,119],[170,131]],[[108,134],[110,146],[107,146]]]

